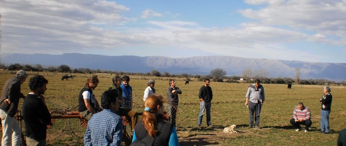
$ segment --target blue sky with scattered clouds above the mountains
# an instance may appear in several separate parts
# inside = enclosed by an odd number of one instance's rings
[[[346,0],[0,0],[0,53],[346,63]]]

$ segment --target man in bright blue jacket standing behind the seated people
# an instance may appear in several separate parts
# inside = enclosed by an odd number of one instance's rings
[[[122,83],[120,87],[122,89],[122,96],[125,102],[121,106],[127,109],[132,109],[132,87],[129,85],[129,80],[129,76],[122,76]]]

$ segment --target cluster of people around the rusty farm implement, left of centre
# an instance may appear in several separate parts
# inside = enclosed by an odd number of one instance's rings
[[[137,112],[132,110],[132,87],[129,85],[129,81],[130,78],[127,75],[122,78],[119,76],[112,78],[112,84],[101,95],[102,109],[93,94],[93,89],[99,82],[97,76],[91,76],[86,80],[78,97],[78,111],[82,117],[88,120],[84,145],[120,145],[121,140],[125,145],[143,141],[158,145],[167,143],[178,145],[175,118],[177,94],[181,94],[181,90],[175,87],[175,81],[170,79],[169,89],[167,89],[168,103],[170,103],[168,104],[168,114],[171,122],[163,120],[163,97],[155,94],[155,81],[152,79],[148,81],[148,87],[144,91],[145,109],[142,113],[142,120],[138,121]],[[132,139],[128,135],[123,135],[120,117],[123,115],[131,117]]]

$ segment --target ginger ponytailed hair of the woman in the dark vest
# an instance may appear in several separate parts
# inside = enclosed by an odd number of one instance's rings
[[[149,136],[154,136],[158,132],[157,130],[157,119],[154,113],[157,113],[157,105],[163,108],[163,96],[158,94],[149,95],[144,103],[145,107],[150,110],[144,110],[142,115],[142,123],[146,131],[148,131]]]

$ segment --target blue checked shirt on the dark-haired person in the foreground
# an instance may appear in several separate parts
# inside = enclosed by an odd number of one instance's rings
[[[84,145],[120,145],[121,138],[121,117],[110,109],[103,109],[87,122]]]

